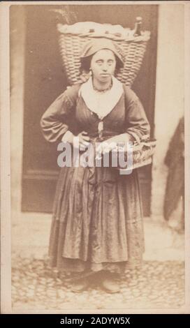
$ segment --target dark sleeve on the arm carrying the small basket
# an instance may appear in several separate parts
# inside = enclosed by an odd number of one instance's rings
[[[140,143],[149,138],[149,121],[138,96],[128,87],[125,87],[125,103],[126,133],[130,135],[131,141]]]

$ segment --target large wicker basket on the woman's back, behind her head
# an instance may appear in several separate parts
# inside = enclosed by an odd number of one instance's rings
[[[116,77],[119,81],[131,87],[142,64],[150,32],[145,31],[141,32],[140,36],[134,36],[133,30],[120,27],[122,31],[114,33],[112,30],[114,26],[93,22],[78,23],[78,31],[72,29],[73,26],[57,24],[61,58],[68,82],[75,84],[81,81],[80,54],[85,43],[92,38],[109,38],[123,48],[126,58],[124,68],[119,70]],[[103,31],[97,31],[97,26],[101,26]],[[91,28],[89,29],[89,27]],[[118,29],[118,26],[116,27]]]

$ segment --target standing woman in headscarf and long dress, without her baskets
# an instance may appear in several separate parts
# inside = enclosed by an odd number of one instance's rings
[[[124,65],[120,47],[108,39],[90,41],[81,63],[83,70],[89,70],[89,80],[64,91],[43,114],[45,139],[73,144],[78,136],[82,154],[93,140],[112,144],[148,137],[149,123],[140,100],[114,77]],[[98,272],[102,287],[118,292],[113,277],[140,264],[143,242],[137,170],[120,175],[114,167],[61,168],[50,232],[52,266]],[[88,285],[84,276],[72,289],[80,292]]]

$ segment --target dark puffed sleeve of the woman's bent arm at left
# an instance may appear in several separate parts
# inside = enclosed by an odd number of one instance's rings
[[[55,142],[68,131],[69,119],[74,115],[78,88],[70,87],[61,94],[41,117],[41,128],[45,140]]]

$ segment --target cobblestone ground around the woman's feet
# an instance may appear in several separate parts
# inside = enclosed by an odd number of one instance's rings
[[[47,259],[14,258],[13,309],[125,309],[180,308],[184,305],[184,262],[145,261],[138,271],[121,276],[120,292],[110,295],[98,285],[75,294],[68,276],[59,278]]]

